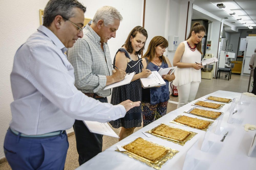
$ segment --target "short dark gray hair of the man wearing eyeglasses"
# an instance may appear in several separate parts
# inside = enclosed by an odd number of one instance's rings
[[[86,7],[77,0],[50,0],[44,10],[43,25],[49,27],[57,15],[65,19],[73,17],[75,15],[74,8],[80,8],[83,12],[86,11]]]

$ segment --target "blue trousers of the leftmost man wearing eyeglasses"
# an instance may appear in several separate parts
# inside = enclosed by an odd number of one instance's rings
[[[69,143],[66,132],[51,137],[30,138],[7,130],[4,153],[13,170],[64,169]]]

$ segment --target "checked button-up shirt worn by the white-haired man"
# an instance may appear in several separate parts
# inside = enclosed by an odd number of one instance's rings
[[[87,24],[83,38],[68,49],[68,60],[74,67],[75,86],[83,93],[110,96],[111,90],[103,90],[106,76],[112,75],[112,59],[107,43],[101,49],[100,36]]]

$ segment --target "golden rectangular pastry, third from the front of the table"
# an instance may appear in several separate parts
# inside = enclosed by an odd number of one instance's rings
[[[205,129],[209,126],[210,122],[206,120],[196,119],[188,116],[181,116],[174,120],[175,122],[188,125],[197,129]]]

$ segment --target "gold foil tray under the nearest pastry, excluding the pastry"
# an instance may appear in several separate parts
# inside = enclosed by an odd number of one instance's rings
[[[144,139],[144,140],[145,140],[145,139]],[[147,141],[147,140],[146,140],[146,141]],[[132,141],[132,142],[133,142],[133,141]],[[132,143],[132,142],[130,142],[130,143]],[[151,141],[148,141],[148,142],[151,142]],[[151,142],[151,143],[153,143],[153,142]],[[147,164],[148,166],[150,166],[150,167],[152,167],[152,168],[155,168],[155,169],[160,169],[160,168],[162,167],[162,165],[163,165],[166,161],[168,161],[169,159],[172,159],[173,156],[174,156],[176,153],[179,152],[179,151],[177,151],[177,150],[174,150],[174,149],[171,149],[171,148],[168,148],[168,147],[159,145],[159,144],[157,144],[157,143],[153,143],[153,144],[154,144],[154,145],[157,145],[157,146],[160,146],[160,147],[163,147],[163,148],[165,148],[165,149],[168,150],[168,152],[167,152],[164,156],[162,156],[162,158],[160,158],[159,160],[157,160],[157,161],[155,161],[155,162],[153,162],[153,161],[151,161],[151,160],[149,160],[149,159],[146,159],[146,158],[144,158],[144,157],[142,157],[142,156],[140,156],[140,155],[137,155],[137,154],[135,154],[135,153],[133,153],[133,152],[130,152],[130,151],[119,151],[118,149],[115,150],[115,151],[121,152],[121,153],[123,153],[123,154],[126,154],[126,155],[128,155],[130,158],[133,158],[133,159],[136,159],[136,160],[138,160],[138,161],[141,161],[141,162],[143,162],[143,163]],[[127,145],[128,145],[128,144],[127,144]],[[123,146],[122,146],[122,147],[123,147]]]

